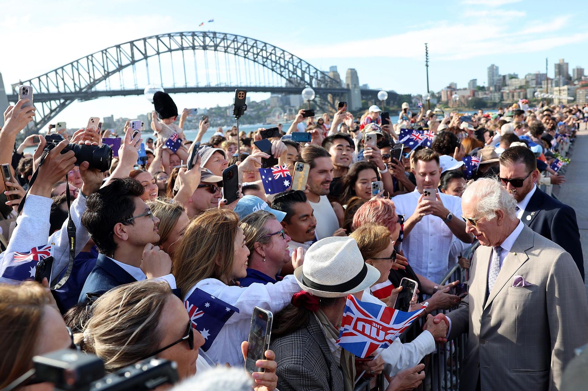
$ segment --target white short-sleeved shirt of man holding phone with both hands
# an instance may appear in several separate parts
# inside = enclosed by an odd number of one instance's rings
[[[440,192],[439,196],[443,205],[453,214],[453,218],[460,218],[462,199]],[[408,220],[416,210],[419,197],[420,193],[415,188],[412,193],[400,194],[392,198],[396,205],[396,213],[404,214],[405,220]],[[447,227],[445,221],[429,214],[416,223],[408,235],[405,235],[402,241],[402,250],[404,250],[405,257],[416,274],[423,275],[437,283],[445,277],[448,271],[447,259],[453,240],[456,240],[456,237]]]

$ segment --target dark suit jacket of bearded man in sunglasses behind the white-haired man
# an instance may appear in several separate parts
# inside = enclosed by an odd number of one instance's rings
[[[576,211],[537,188],[520,219],[537,234],[559,244],[572,255],[584,281],[584,257]]]

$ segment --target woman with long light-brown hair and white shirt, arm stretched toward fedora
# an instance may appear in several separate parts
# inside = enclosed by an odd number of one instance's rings
[[[303,259],[301,249],[296,253],[295,268]],[[276,284],[241,288],[237,280],[247,276],[248,257],[239,215],[231,210],[209,209],[186,227],[172,258],[173,275],[184,301],[198,288],[239,309],[220,329],[206,352],[215,363],[243,365],[239,346],[233,341],[248,338],[253,308],[259,306],[278,312],[299,291],[292,275]]]

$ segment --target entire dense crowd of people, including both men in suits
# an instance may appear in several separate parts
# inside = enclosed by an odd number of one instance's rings
[[[375,105],[360,117],[300,110],[261,151],[265,129],[219,127],[202,140],[206,117],[188,140],[188,110],[156,95],[153,136],[127,123],[16,146],[35,109],[22,99],[4,113],[0,388],[22,380],[34,356],[72,348],[108,372],[173,360],[188,382],[178,389],[220,389],[202,388],[218,371],[230,389],[350,391],[367,379],[375,390],[384,376],[386,390],[412,390],[436,343],[467,333],[460,389],[561,389],[588,342],[588,304],[576,213],[540,187],[564,183],[559,168],[588,105],[519,102],[465,116],[403,103],[391,121]],[[104,169],[71,147],[100,147],[116,132]],[[310,141],[293,140],[302,132]],[[270,157],[290,175],[308,165],[306,186],[266,191],[259,169]],[[238,194],[225,194],[233,164]],[[39,279],[44,252],[52,263]],[[441,284],[456,264],[469,272],[467,295],[453,290],[460,281]],[[393,307],[403,279],[417,283],[410,308],[425,311],[402,341],[365,359],[339,346],[348,296]],[[201,317],[202,295],[226,306],[220,325]],[[273,324],[249,373],[256,307]],[[18,387],[52,389],[34,377]]]

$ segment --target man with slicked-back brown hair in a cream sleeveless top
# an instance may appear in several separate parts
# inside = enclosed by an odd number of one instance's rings
[[[316,215],[316,238],[345,236],[340,228],[343,221],[343,207],[336,202],[329,202],[327,195],[333,181],[333,162],[329,152],[323,147],[310,144],[300,152],[300,159],[309,164],[306,197]]]

